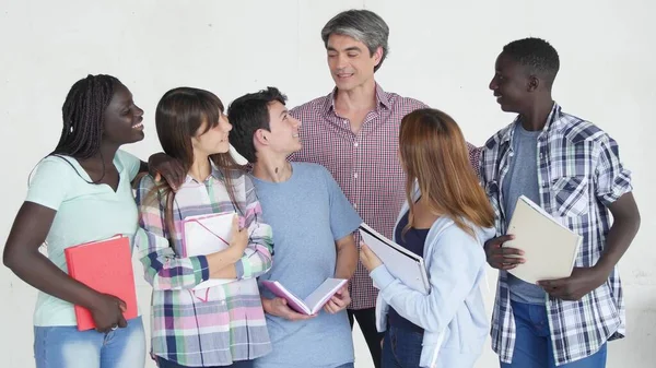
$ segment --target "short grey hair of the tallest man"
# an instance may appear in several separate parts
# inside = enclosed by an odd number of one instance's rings
[[[370,56],[373,56],[378,47],[383,48],[383,57],[374,72],[380,68],[389,52],[389,27],[378,14],[370,10],[347,10],[328,21],[321,29],[321,39],[326,47],[331,34],[349,36],[363,43],[368,48]]]

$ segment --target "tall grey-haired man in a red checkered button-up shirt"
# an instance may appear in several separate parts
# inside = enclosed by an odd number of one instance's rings
[[[376,83],[374,73],[387,57],[388,36],[385,21],[368,10],[341,12],[324,26],[321,39],[336,87],[327,96],[292,109],[292,116],[303,122],[303,149],[290,159],[325,166],[364,222],[391,238],[406,185],[397,157],[399,126],[403,116],[427,106],[385,92]],[[478,167],[478,150],[469,149]],[[375,322],[377,290],[360,262],[350,294],[351,325],[356,319],[379,367],[383,334]]]

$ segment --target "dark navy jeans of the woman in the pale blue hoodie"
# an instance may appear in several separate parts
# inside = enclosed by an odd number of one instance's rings
[[[423,333],[388,327],[383,342],[382,368],[419,368]]]

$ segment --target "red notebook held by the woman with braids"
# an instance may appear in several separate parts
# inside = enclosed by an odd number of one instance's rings
[[[128,307],[124,312],[126,320],[137,317],[137,289],[127,237],[87,242],[67,248],[63,252],[71,277],[94,290],[124,300]],[[75,306],[75,318],[79,331],[95,329],[89,309]]]

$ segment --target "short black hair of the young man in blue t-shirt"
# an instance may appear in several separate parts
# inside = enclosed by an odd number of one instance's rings
[[[227,118],[233,126],[230,131],[230,143],[249,163],[257,162],[253,134],[258,129],[271,130],[269,104],[274,102],[284,105],[286,96],[276,87],[267,87],[267,90],[246,94],[233,100],[227,107]]]

